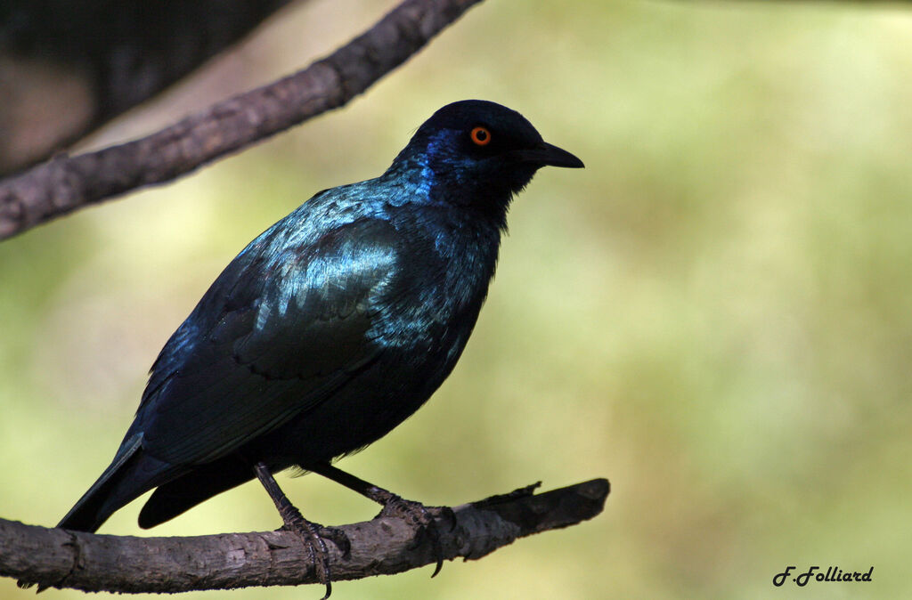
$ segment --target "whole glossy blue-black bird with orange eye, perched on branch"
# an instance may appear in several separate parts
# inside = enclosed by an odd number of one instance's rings
[[[584,165],[519,112],[461,100],[420,125],[379,177],[319,191],[275,222],[161,349],[114,459],[58,527],[95,532],[154,489],[139,515],[150,528],[258,479],[285,528],[306,538],[326,596],[324,539],[347,541],[306,521],[276,472],[324,475],[432,530],[419,502],[333,462],[389,433],[451,374],[513,197],[544,166]]]

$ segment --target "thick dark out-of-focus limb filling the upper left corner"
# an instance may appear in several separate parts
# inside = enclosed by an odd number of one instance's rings
[[[289,1],[0,3],[0,177],[156,96]]]

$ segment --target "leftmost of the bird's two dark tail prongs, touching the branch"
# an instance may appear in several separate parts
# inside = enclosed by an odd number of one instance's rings
[[[174,467],[140,450],[142,436],[124,440],[98,481],[82,495],[57,527],[94,533],[121,506],[174,477]]]

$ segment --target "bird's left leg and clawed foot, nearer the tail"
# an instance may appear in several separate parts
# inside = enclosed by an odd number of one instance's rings
[[[326,600],[332,594],[333,586],[329,570],[329,551],[326,550],[326,542],[323,538],[330,539],[344,555],[347,555],[351,550],[351,543],[348,542],[346,534],[342,530],[307,521],[285,496],[285,492],[279,487],[264,462],[257,462],[254,465],[254,471],[256,478],[260,480],[269,497],[275,502],[275,508],[282,515],[282,521],[285,523],[282,528],[286,531],[300,533],[304,538],[307,553],[316,569],[316,578],[321,584],[326,585],[326,595],[321,599]]]

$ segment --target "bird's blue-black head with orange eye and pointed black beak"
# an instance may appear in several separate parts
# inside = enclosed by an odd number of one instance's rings
[[[387,171],[408,177],[431,202],[505,215],[514,193],[546,165],[583,161],[542,139],[523,115],[486,100],[461,100],[435,112]]]

